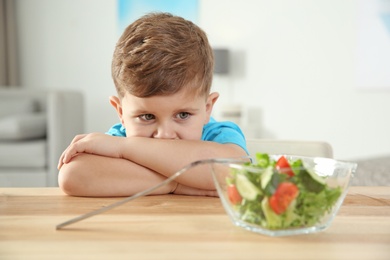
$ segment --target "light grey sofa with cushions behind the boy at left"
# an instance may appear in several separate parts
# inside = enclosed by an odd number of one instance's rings
[[[58,159],[83,132],[80,92],[0,87],[0,187],[58,186]]]

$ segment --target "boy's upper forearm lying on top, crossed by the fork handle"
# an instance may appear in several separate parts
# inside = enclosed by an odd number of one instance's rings
[[[121,147],[121,155],[125,159],[169,177],[197,160],[242,157],[246,156],[246,153],[233,144],[127,137]],[[198,189],[215,189],[207,166],[198,166],[176,180],[183,185]]]

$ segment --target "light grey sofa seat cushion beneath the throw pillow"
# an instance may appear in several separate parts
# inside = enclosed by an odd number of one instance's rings
[[[46,140],[0,142],[0,168],[35,167],[47,165]]]

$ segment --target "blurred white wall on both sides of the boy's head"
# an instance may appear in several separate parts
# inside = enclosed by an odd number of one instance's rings
[[[390,154],[390,92],[356,87],[357,1],[200,4],[212,45],[232,53],[232,73],[214,81],[217,110],[258,111],[257,137],[326,140],[338,159]],[[82,90],[87,131],[107,130],[117,121],[108,104],[116,1],[18,0],[17,10],[22,85]]]

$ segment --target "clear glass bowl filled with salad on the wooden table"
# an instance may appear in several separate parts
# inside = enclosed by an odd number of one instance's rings
[[[356,163],[329,158],[267,154],[258,154],[252,163],[215,162],[210,166],[232,222],[268,236],[328,228],[357,168]]]

